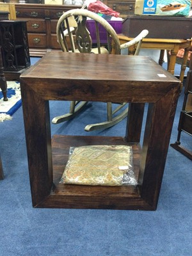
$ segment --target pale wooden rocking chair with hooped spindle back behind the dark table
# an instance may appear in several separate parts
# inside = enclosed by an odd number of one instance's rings
[[[97,38],[97,44],[92,47],[92,38],[90,32],[86,28],[86,20],[90,18],[95,20],[95,33]],[[106,31],[107,36],[107,47],[104,47],[100,43],[100,33],[99,26]],[[121,54],[122,49],[129,49],[130,45],[136,45],[135,55],[140,52],[140,46],[142,39],[147,36],[148,31],[144,29],[141,33],[136,36],[131,42],[120,45],[120,41],[116,35],[113,27],[96,13],[90,12],[85,9],[74,9],[63,13],[63,15],[58,20],[57,28],[57,38],[63,52],[81,52],[81,53],[95,53],[95,54],[111,54],[111,40],[113,40],[115,45],[115,54]],[[87,102],[70,102],[69,113],[62,116],[56,116],[52,119],[53,124],[59,124],[61,122],[67,121],[70,118],[76,116],[86,105]],[[99,124],[86,125],[85,131],[94,131],[97,129],[106,129],[111,127],[127,116],[128,108],[125,108],[125,104],[120,103],[118,106],[112,110],[112,102],[107,102],[107,118],[106,122]],[[116,114],[116,115],[115,115]]]

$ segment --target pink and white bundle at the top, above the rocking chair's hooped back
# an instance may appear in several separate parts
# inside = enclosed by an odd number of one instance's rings
[[[113,11],[113,9],[109,8],[108,6],[106,6],[106,4],[100,1],[95,1],[88,4],[87,8],[89,11],[95,12],[95,13],[102,13],[102,14],[111,15],[114,17],[119,17],[120,15],[119,12]]]

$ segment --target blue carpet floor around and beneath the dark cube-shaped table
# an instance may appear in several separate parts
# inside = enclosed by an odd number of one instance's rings
[[[179,97],[170,143],[177,139],[182,108]],[[99,104],[99,103],[98,103]],[[88,104],[76,119],[51,125],[52,134],[81,134],[86,124],[104,120],[105,105]],[[51,118],[65,111],[64,102],[50,102]],[[192,255],[192,164],[168,150],[157,211],[33,209],[22,108],[0,123],[4,180],[0,181],[1,256],[190,256]],[[125,134],[125,120],[93,135]],[[182,134],[192,150],[192,138]]]

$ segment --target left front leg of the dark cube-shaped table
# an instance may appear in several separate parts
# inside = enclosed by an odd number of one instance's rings
[[[40,204],[52,189],[52,152],[49,101],[40,98],[20,82],[29,177],[33,207]]]

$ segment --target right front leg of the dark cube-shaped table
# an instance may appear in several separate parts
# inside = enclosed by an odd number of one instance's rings
[[[154,208],[161,189],[179,92],[179,88],[173,88],[165,97],[148,106],[139,182],[142,184],[141,198]]]

